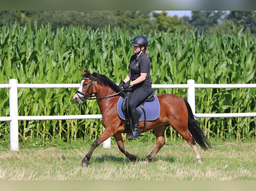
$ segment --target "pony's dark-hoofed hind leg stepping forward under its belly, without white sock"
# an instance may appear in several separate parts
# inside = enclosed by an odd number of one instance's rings
[[[155,136],[156,136],[156,147],[154,150],[147,156],[146,162],[151,162],[154,156],[158,153],[158,151],[163,147],[165,144],[164,139],[164,131],[166,129],[166,126],[160,126],[155,128]]]

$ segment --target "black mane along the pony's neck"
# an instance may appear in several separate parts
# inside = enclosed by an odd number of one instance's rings
[[[87,75],[86,75],[87,76]],[[88,76],[87,76],[88,77]],[[98,74],[96,72],[94,72],[93,74],[91,74],[91,76],[89,77],[91,80],[96,80],[98,84],[100,85],[104,85],[104,86],[108,86],[110,87],[112,90],[114,90],[116,93],[119,93],[122,91],[122,89],[116,85],[115,82],[113,82],[112,80],[110,80],[107,76],[103,75],[103,74]],[[125,92],[122,92],[119,94],[122,97],[126,96]]]

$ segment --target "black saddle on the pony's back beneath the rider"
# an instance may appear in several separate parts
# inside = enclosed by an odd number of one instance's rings
[[[142,115],[142,112],[144,113],[144,127],[145,127],[145,128],[147,128],[147,123],[146,123],[146,111],[145,111],[145,109],[144,109],[144,103],[145,103],[145,102],[154,101],[154,99],[155,99],[154,93],[155,93],[155,91],[154,91],[154,90],[151,90],[151,93],[150,93],[150,95],[146,98],[146,100],[145,100],[142,104],[140,104],[138,107],[136,107],[137,113],[138,113],[139,116]],[[124,98],[123,103],[122,103],[122,106],[121,106],[124,115],[127,115],[128,118],[129,118],[129,120],[128,120],[127,123],[126,123],[125,131],[127,131],[128,128],[129,128],[129,129],[132,128],[132,126],[131,126],[131,119],[130,119],[130,117],[129,117],[129,112],[128,112],[128,102],[129,102],[129,100],[130,100],[132,94],[133,94],[133,91],[132,91],[131,89],[128,89],[127,96]],[[128,131],[127,131],[127,132],[128,132]]]

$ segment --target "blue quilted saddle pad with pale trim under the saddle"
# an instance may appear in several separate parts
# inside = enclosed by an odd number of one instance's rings
[[[147,121],[153,121],[159,117],[160,114],[160,105],[159,105],[159,100],[156,95],[154,95],[155,99],[154,101],[150,102],[145,102],[144,103],[144,110],[146,112],[146,120]],[[123,111],[122,111],[122,103],[124,101],[123,97],[120,97],[118,102],[117,102],[117,114],[121,119],[127,119],[128,116],[125,116]],[[140,121],[144,121],[144,112],[142,112],[142,115],[139,119]]]

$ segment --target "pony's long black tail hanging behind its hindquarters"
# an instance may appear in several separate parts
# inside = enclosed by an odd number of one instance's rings
[[[211,148],[211,143],[209,139],[205,136],[203,132],[203,128],[198,124],[198,122],[195,119],[195,115],[192,112],[192,109],[187,102],[186,99],[184,99],[187,112],[188,112],[188,131],[190,134],[194,137],[196,143],[203,149],[207,150],[208,148]]]

